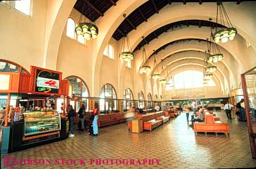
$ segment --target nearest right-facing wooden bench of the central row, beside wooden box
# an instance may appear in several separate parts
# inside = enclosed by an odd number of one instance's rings
[[[154,113],[150,113],[148,115],[142,116],[143,120],[143,129],[149,130],[156,128],[157,126],[163,124],[163,120],[157,120],[156,115]]]

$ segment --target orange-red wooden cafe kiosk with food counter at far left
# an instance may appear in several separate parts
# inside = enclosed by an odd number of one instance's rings
[[[54,110],[57,98],[66,100],[68,81],[62,81],[61,72],[30,68],[28,72],[18,64],[0,60],[2,153],[57,141],[68,134],[65,101],[63,112]]]

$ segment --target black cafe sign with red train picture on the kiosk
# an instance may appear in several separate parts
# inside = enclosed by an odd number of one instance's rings
[[[36,92],[58,93],[60,88],[60,74],[36,69]]]

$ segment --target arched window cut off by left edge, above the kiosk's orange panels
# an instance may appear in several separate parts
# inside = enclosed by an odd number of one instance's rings
[[[22,66],[14,62],[0,59],[0,72],[24,73],[30,74]]]

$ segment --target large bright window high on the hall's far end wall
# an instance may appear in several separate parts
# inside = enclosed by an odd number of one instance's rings
[[[203,87],[203,73],[196,70],[186,70],[174,75],[175,88]]]

